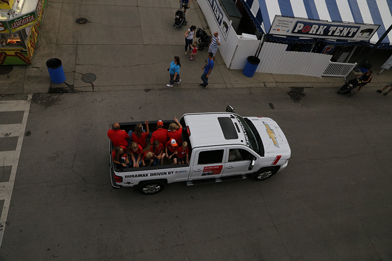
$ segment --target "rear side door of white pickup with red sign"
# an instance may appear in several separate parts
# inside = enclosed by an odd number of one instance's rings
[[[220,177],[223,172],[224,156],[224,148],[196,151],[191,179]]]

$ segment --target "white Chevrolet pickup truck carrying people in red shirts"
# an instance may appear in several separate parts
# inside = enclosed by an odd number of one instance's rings
[[[182,140],[188,142],[189,164],[117,168],[110,158],[113,188],[138,186],[143,194],[162,191],[169,183],[187,185],[243,179],[264,180],[284,169],[291,149],[278,124],[263,117],[241,117],[227,106],[221,113],[185,114]],[[154,126],[157,121],[150,121]],[[170,120],[164,120],[168,128]],[[133,130],[137,123],[120,123]],[[110,142],[110,157],[113,144]]]

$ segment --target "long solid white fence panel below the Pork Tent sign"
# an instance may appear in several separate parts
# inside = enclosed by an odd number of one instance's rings
[[[286,49],[284,44],[264,43],[256,72],[320,77],[332,58],[332,55]]]

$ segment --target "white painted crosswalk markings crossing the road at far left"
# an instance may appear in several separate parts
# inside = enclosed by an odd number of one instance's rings
[[[0,112],[24,111],[21,124],[4,124],[5,128],[9,125],[19,125],[19,138],[16,149],[13,151],[0,152],[0,166],[12,166],[8,182],[2,182],[3,187],[0,190],[0,199],[4,199],[3,209],[0,217],[0,247],[4,236],[5,222],[7,221],[9,205],[14,189],[16,170],[18,169],[19,157],[21,155],[22,142],[24,138],[28,112],[30,110],[32,94],[28,95],[27,100],[0,101]],[[12,128],[12,126],[11,126]],[[3,130],[3,129],[2,129]]]

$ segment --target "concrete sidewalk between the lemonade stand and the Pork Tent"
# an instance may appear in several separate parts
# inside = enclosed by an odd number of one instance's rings
[[[166,69],[173,56],[180,57],[182,81],[172,88],[201,89],[207,50],[198,51],[196,59],[190,61],[189,54],[184,54],[184,33],[191,25],[208,25],[194,0],[187,13],[189,24],[184,24],[182,31],[173,29],[177,8],[177,0],[113,0],[110,5],[104,0],[48,0],[32,65],[13,66],[11,72],[0,75],[0,94],[167,89]],[[86,18],[89,23],[76,24],[78,18]],[[63,63],[63,84],[50,82],[46,61],[54,57]],[[385,51],[374,53],[370,59],[374,79],[367,86],[371,88],[362,91],[374,91],[391,81],[390,71],[376,74],[388,57]],[[86,83],[82,81],[85,73],[94,73],[97,79]],[[352,72],[347,78],[356,75]],[[208,88],[338,88],[344,79],[268,73],[248,78],[240,70],[228,70],[217,54],[210,83]]]

